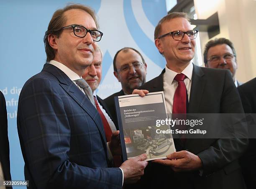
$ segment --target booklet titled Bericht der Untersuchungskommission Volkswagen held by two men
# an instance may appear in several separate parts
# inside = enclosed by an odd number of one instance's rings
[[[164,159],[175,150],[169,125],[156,124],[167,117],[164,92],[151,92],[145,97],[115,97],[123,161],[147,154],[146,161]]]

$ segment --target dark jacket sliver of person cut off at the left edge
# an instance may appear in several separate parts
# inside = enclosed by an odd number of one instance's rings
[[[0,161],[3,167],[3,174],[5,176],[5,180],[11,180],[6,103],[5,103],[5,97],[1,91],[0,91]]]

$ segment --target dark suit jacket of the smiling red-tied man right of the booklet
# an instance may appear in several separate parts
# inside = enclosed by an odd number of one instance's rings
[[[145,83],[140,89],[164,91],[163,74]],[[243,113],[241,100],[230,73],[194,65],[187,113]],[[245,151],[246,139],[187,139],[183,145],[174,139],[177,151],[190,151],[202,160],[199,171],[174,173],[168,166],[150,163],[139,187],[179,189],[243,189],[238,157]],[[145,188],[146,188],[145,187]]]

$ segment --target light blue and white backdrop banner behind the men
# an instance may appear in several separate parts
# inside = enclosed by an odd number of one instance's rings
[[[103,53],[102,82],[97,95],[108,97],[121,89],[113,75],[116,51],[128,46],[141,52],[148,64],[147,81],[161,73],[164,58],[154,45],[154,28],[166,15],[165,0],[75,0],[89,5],[98,15],[99,45]],[[46,62],[43,37],[54,11],[69,3],[65,0],[1,0],[0,5],[0,90],[8,112],[10,163],[13,180],[24,179],[24,161],[17,132],[17,106],[23,84]],[[35,149],[36,151],[36,149]]]

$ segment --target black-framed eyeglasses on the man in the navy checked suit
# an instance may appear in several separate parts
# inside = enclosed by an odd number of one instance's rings
[[[98,30],[89,30],[85,28],[84,26],[77,25],[77,24],[71,24],[69,26],[64,26],[60,30],[67,29],[67,28],[73,28],[74,35],[77,37],[84,37],[86,36],[87,32],[89,32],[92,36],[93,41],[100,41],[101,37],[103,36],[103,33]]]

